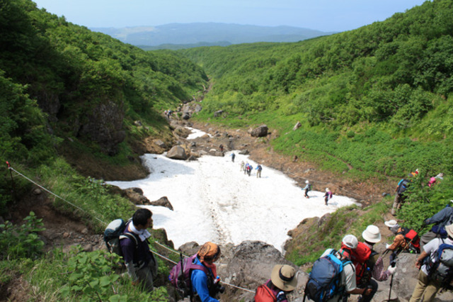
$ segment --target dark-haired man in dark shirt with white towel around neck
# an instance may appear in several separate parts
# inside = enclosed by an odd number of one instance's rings
[[[122,256],[132,284],[142,284],[147,291],[153,290],[153,279],[157,275],[157,262],[149,251],[147,240],[151,236],[147,228],[153,225],[152,215],[147,208],[135,211],[132,220],[126,224],[124,233],[132,233],[137,243],[129,237],[120,240]]]

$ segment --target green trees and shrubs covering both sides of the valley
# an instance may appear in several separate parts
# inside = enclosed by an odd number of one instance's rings
[[[31,0],[0,0],[0,216],[32,188],[24,179],[12,181],[9,162],[84,208],[74,212],[55,199],[61,213],[99,233],[105,225],[94,217],[129,218],[129,201],[78,172],[68,150],[103,164],[133,164],[137,142],[171,137],[161,112],[211,84],[197,121],[229,128],[266,124],[277,133],[273,150],[356,181],[396,185],[418,168],[410,204],[398,214],[418,228],[453,194],[452,16],[452,0],[433,0],[383,22],[299,43],[144,51],[69,23]],[[224,113],[214,118],[219,110]],[[302,127],[293,131],[298,121]],[[440,172],[442,185],[428,189],[425,179]],[[384,198],[376,211],[387,211],[388,203]],[[88,301],[100,293],[110,301],[143,298],[127,279],[104,272],[109,264],[101,252],[44,255],[36,235],[42,222],[33,213],[24,225],[0,228],[1,284],[25,274],[45,300]],[[342,230],[331,230],[337,233],[313,244],[338,240]],[[306,250],[287,257],[297,264],[313,259]],[[166,264],[160,269],[168,274]],[[61,276],[62,270],[67,274]],[[80,276],[84,284],[77,283]],[[101,277],[107,279],[96,283]],[[153,294],[154,301],[165,301],[164,281]]]

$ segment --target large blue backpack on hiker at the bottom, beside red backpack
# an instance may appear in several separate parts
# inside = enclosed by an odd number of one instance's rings
[[[305,285],[305,296],[315,302],[328,301],[338,293],[343,293],[344,288],[340,286],[341,272],[343,267],[351,264],[350,259],[338,259],[336,250],[319,259],[317,259],[311,273],[309,280]]]

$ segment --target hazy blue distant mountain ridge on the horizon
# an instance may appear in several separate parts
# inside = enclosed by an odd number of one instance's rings
[[[333,33],[292,26],[271,27],[226,23],[171,23],[162,26],[90,29],[137,46],[297,42]]]

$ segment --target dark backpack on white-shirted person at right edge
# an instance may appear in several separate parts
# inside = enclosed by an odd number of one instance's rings
[[[453,280],[453,245],[444,243],[439,246],[437,251],[430,255],[427,265],[428,277],[438,281],[442,287],[449,286]]]

